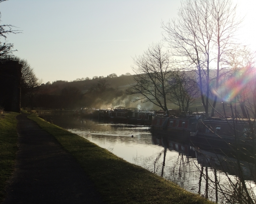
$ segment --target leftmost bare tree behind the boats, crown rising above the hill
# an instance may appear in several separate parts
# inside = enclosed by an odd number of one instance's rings
[[[167,95],[170,93],[170,57],[162,43],[152,44],[142,55],[133,58],[135,81],[126,91],[138,98],[141,103],[152,102],[164,111],[167,108]]]

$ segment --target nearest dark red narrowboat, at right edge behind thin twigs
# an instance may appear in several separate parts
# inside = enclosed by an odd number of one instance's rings
[[[250,121],[253,124],[253,120]],[[251,125],[254,127],[255,125]],[[255,134],[249,119],[210,117],[193,124],[190,141],[203,149],[255,156]],[[237,155],[235,155],[237,156]]]

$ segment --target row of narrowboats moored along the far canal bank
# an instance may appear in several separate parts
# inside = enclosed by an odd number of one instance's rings
[[[249,119],[231,117],[208,117],[203,114],[180,115],[179,111],[138,110],[118,107],[114,110],[88,109],[82,107],[77,115],[108,120],[110,123],[150,125],[154,134],[179,141],[190,141],[216,152],[241,150],[245,154],[256,152],[255,134]],[[253,120],[250,120],[253,123]],[[254,127],[255,125],[253,125]],[[234,154],[234,153],[232,153]]]

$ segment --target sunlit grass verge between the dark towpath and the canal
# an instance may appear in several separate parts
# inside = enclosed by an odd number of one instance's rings
[[[36,114],[28,118],[52,134],[77,159],[108,203],[212,203]]]

